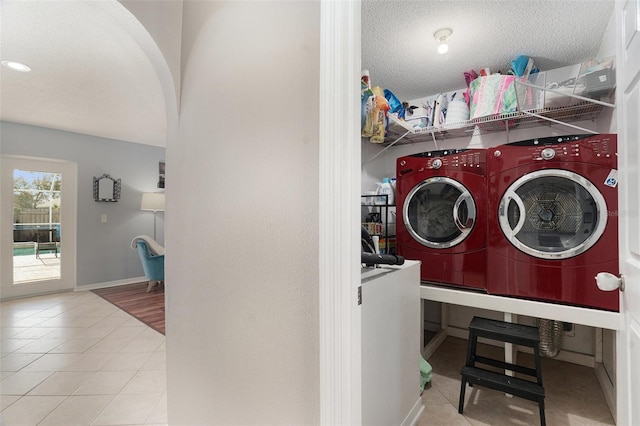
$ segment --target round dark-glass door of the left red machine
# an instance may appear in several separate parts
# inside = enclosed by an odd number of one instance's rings
[[[432,177],[407,194],[402,209],[405,227],[420,244],[445,249],[460,244],[476,223],[476,204],[455,179]]]

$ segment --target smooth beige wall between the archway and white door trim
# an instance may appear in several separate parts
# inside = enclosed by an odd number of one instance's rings
[[[318,424],[319,2],[185,2],[170,424]]]

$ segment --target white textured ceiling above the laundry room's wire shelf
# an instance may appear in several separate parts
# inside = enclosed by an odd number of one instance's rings
[[[526,55],[540,70],[595,56],[614,0],[362,2],[362,68],[374,86],[412,100],[465,87],[463,73],[507,72]],[[436,30],[451,28],[436,52]]]

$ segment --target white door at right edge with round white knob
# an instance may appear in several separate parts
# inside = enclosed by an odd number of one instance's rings
[[[640,243],[637,215],[640,205],[635,148],[638,141],[640,113],[640,0],[615,2],[616,21],[616,117],[618,121],[619,185],[619,253],[620,272],[624,274],[624,291],[620,292],[621,326],[616,333],[616,423],[640,421],[638,396],[640,367]],[[635,134],[630,134],[633,127]],[[635,137],[635,138],[634,138]],[[607,271],[603,271],[607,272]]]

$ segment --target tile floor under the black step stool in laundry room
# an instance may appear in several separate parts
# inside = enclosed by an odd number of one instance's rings
[[[539,425],[538,404],[504,393],[467,387],[463,414],[458,414],[460,369],[467,341],[447,337],[428,360],[433,368],[431,384],[422,394],[425,406],[419,426]],[[504,357],[502,348],[479,344],[478,353]],[[519,354],[518,362],[533,367],[533,357]],[[504,358],[502,358],[504,359]],[[549,426],[614,425],[592,368],[554,359],[542,359],[545,417]]]

